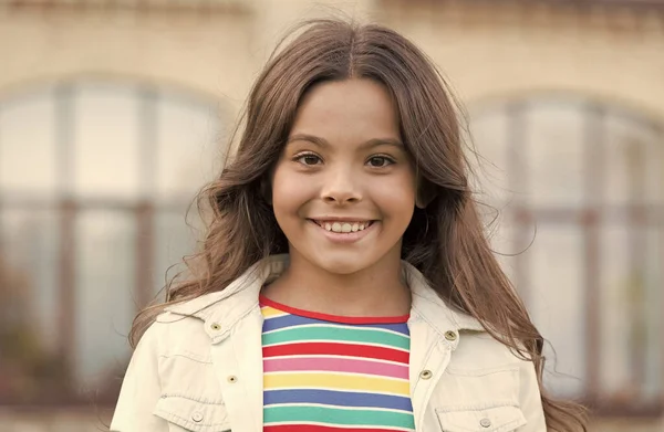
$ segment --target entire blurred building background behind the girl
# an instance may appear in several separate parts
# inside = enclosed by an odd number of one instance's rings
[[[0,0],[0,431],[108,424],[252,80],[291,24],[340,13],[411,38],[465,104],[550,391],[593,431],[664,431],[655,0]]]

